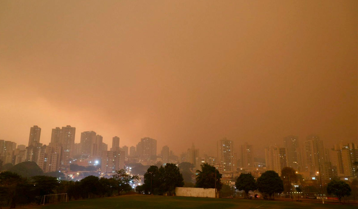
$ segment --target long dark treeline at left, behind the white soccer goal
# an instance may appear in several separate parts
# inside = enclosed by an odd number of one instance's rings
[[[68,200],[121,195],[132,190],[138,176],[122,169],[112,178],[87,176],[81,181],[58,181],[51,176],[22,177],[5,171],[0,173],[0,204],[15,208],[16,204],[39,204],[43,195],[67,193]],[[0,206],[1,207],[1,206]]]

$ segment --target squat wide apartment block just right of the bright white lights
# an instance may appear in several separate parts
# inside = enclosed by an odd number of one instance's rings
[[[113,174],[124,169],[124,158],[124,151],[102,151],[101,172]]]

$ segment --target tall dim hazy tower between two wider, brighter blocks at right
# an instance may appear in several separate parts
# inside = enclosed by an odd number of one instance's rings
[[[288,166],[297,170],[298,169],[298,156],[297,156],[298,138],[292,135],[285,137],[284,146],[287,152]]]

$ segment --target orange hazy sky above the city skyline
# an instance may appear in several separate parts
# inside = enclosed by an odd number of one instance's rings
[[[357,0],[2,0],[0,139],[357,142],[357,19]]]

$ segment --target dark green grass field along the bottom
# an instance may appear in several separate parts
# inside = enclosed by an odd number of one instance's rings
[[[246,199],[214,199],[178,196],[123,195],[110,198],[96,198],[70,201],[67,203],[36,206],[36,208],[357,208],[356,205],[333,205],[320,203],[301,203]]]

